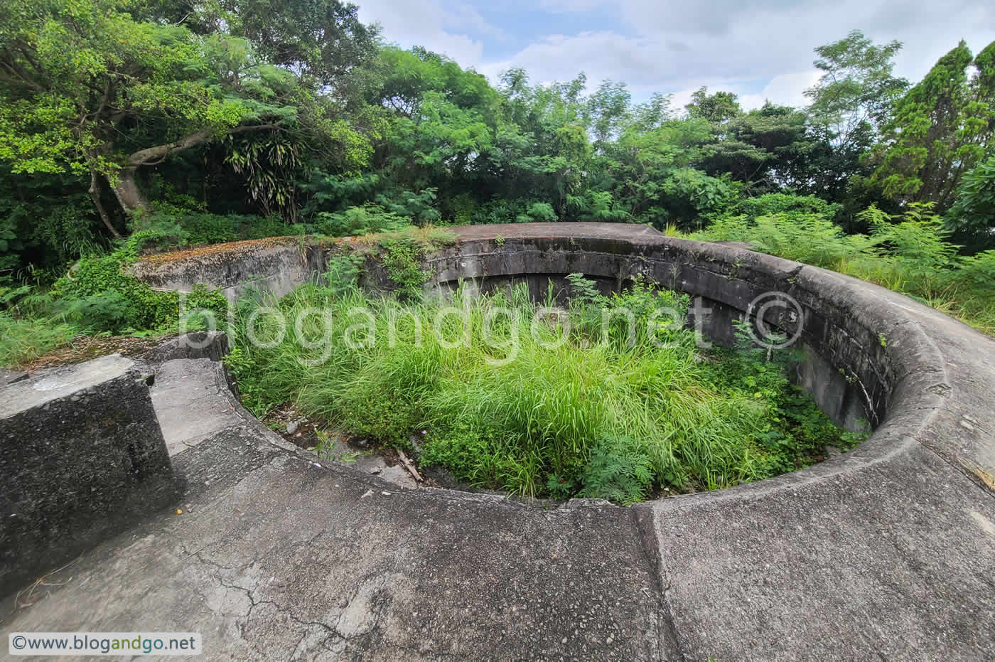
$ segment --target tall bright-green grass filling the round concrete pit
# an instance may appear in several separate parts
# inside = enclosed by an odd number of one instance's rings
[[[683,316],[686,298],[638,285],[606,299],[585,283],[534,334],[523,289],[458,293],[465,325],[443,302],[307,285],[265,313],[242,302],[228,362],[258,415],[292,401],[382,444],[410,448],[414,434],[423,467],[523,495],[632,503],[768,478],[852,444],[763,352],[702,354],[692,331],[648,329],[657,308]],[[621,318],[603,332],[604,306],[634,312],[631,345]],[[282,335],[276,311],[302,334]]]

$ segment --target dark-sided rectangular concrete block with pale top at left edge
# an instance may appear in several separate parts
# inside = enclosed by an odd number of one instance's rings
[[[177,496],[148,387],[117,354],[0,388],[0,595]]]

